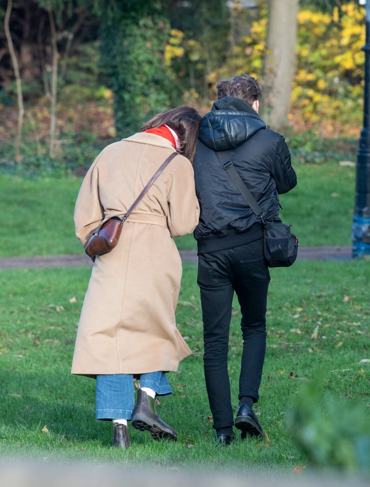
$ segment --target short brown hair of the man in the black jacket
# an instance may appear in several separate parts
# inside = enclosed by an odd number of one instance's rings
[[[224,98],[224,96],[235,96],[235,98],[241,98],[250,106],[253,105],[253,102],[260,99],[262,95],[262,89],[258,81],[245,73],[217,81],[216,88],[218,100]]]

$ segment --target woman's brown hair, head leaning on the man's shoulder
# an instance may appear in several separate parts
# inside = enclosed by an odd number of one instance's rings
[[[142,130],[168,125],[178,135],[179,153],[193,162],[198,139],[200,115],[195,108],[177,107],[168,112],[155,115],[144,123]]]

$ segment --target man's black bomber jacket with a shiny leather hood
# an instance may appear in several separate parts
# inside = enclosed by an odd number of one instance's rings
[[[250,105],[233,96],[215,102],[201,120],[194,159],[200,219],[194,231],[198,254],[227,249],[262,237],[262,224],[216,156],[228,151],[239,176],[264,211],[279,217],[278,194],[297,184],[284,138]]]

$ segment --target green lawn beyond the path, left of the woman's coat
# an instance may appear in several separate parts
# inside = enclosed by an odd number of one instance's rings
[[[81,180],[0,175],[0,256],[81,252],[73,211]]]

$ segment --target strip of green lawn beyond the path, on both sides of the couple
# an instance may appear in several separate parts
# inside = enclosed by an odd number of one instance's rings
[[[282,219],[300,244],[350,245],[355,168],[338,164],[295,167],[298,186],[281,196]],[[80,253],[73,210],[81,179],[21,179],[0,175],[0,256]],[[195,249],[192,235],[176,239]]]

